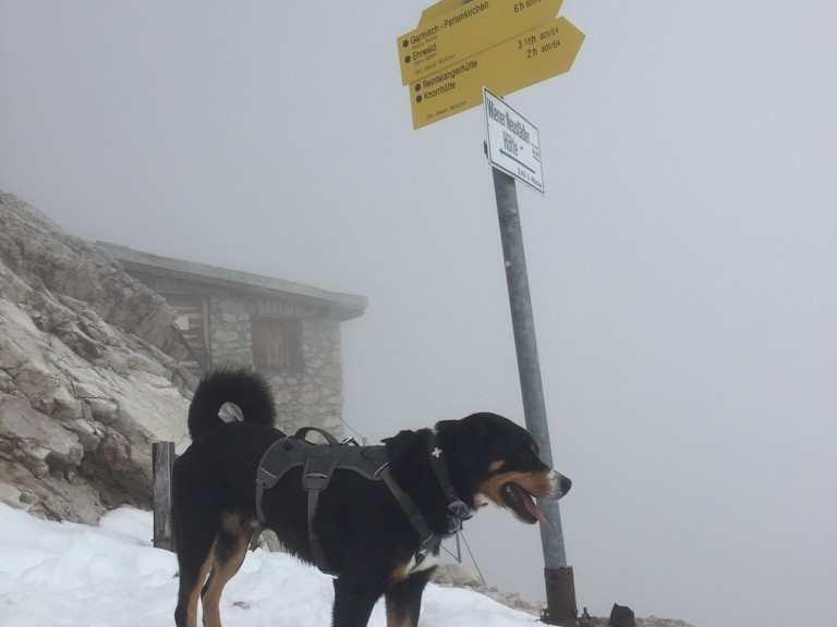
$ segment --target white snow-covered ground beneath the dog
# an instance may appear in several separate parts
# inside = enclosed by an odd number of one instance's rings
[[[171,626],[177,563],[150,545],[150,536],[148,512],[123,507],[87,527],[0,504],[0,626]],[[332,598],[329,577],[257,550],[225,589],[221,616],[226,627],[325,627]],[[421,624],[532,627],[534,620],[475,592],[432,585]],[[369,625],[386,625],[383,601]]]

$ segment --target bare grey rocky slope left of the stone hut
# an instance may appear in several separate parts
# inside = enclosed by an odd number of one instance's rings
[[[0,501],[93,522],[149,506],[150,445],[193,383],[165,300],[0,192]]]

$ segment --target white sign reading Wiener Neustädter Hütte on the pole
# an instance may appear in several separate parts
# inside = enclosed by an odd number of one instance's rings
[[[544,193],[541,137],[537,126],[483,88],[488,161],[493,167]]]

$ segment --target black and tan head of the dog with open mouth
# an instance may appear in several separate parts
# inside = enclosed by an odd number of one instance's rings
[[[546,522],[534,499],[560,499],[572,485],[541,460],[530,432],[508,418],[482,413],[436,427],[453,453],[451,480],[473,508],[494,503],[523,522]]]

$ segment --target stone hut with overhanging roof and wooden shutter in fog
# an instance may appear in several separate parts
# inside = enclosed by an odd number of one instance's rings
[[[365,297],[117,244],[97,246],[175,309],[196,373],[255,368],[274,389],[280,429],[314,425],[343,433],[340,323],[363,315]]]

